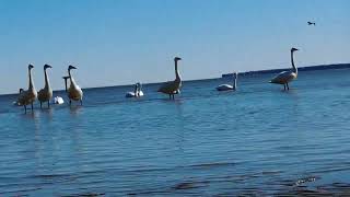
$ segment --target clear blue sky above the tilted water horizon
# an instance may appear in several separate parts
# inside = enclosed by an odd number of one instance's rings
[[[0,0],[0,94],[37,89],[50,63],[54,89],[72,63],[82,88],[232,71],[350,62],[348,0]],[[307,26],[308,20],[316,26]]]

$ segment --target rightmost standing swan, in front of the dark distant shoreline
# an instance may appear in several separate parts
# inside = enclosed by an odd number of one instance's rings
[[[278,76],[276,76],[273,79],[271,79],[270,83],[277,83],[282,84],[289,90],[289,82],[298,78],[298,68],[294,65],[294,51],[299,50],[298,48],[291,48],[291,62],[292,62],[292,70],[291,71],[283,71],[280,72]]]

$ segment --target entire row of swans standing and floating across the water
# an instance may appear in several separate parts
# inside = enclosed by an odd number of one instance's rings
[[[284,86],[284,90],[289,90],[289,83],[298,78],[298,68],[294,65],[294,53],[298,51],[298,48],[291,48],[291,65],[292,65],[292,70],[290,71],[283,71],[280,72],[278,76],[276,76],[270,83],[276,83],[276,84],[282,84]],[[179,57],[174,58],[175,62],[175,80],[174,81],[168,81],[163,83],[158,92],[167,94],[170,99],[174,100],[175,94],[180,93],[180,88],[182,88],[182,78],[178,71],[178,61],[182,60]],[[24,106],[24,109],[26,112],[27,105],[32,106],[33,111],[33,103],[37,99],[40,102],[40,108],[43,107],[43,103],[47,102],[47,106],[50,106],[50,100],[52,99],[52,89],[50,86],[49,78],[47,74],[47,69],[52,68],[49,65],[44,66],[44,74],[45,74],[45,86],[39,92],[36,92],[35,85],[33,82],[33,77],[32,77],[32,70],[34,66],[30,65],[28,66],[28,79],[30,79],[30,85],[28,90],[24,91],[23,89],[20,90],[20,95],[18,99],[16,104],[20,106]],[[68,77],[63,77],[65,79],[65,84],[66,84],[66,92],[69,99],[69,104],[71,105],[72,101],[80,102],[82,105],[83,102],[83,91],[81,88],[74,81],[71,70],[77,69],[73,66],[68,67]],[[237,89],[237,77],[238,73],[234,72],[233,73],[233,84],[221,84],[217,86],[218,91],[235,91]],[[70,86],[68,88],[67,81],[70,81]],[[126,94],[126,97],[140,97],[143,96],[143,92],[141,90],[141,83],[136,83],[135,84],[135,91],[133,92],[128,92]],[[61,97],[55,97],[55,103],[56,104],[62,104],[63,100]]]

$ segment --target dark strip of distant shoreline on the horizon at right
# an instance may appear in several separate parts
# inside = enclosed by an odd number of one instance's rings
[[[310,67],[300,67],[298,68],[299,71],[314,71],[314,70],[330,70],[330,69],[349,69],[350,63],[334,63],[334,65],[319,65],[319,66],[310,66]],[[240,72],[243,76],[258,76],[258,74],[267,74],[267,73],[278,73],[281,71],[289,70],[288,68],[284,69],[269,69],[269,70],[256,70],[256,71],[247,71],[247,72]],[[232,77],[232,73],[224,73],[222,78]]]

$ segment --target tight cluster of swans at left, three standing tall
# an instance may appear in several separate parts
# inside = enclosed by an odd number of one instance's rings
[[[44,66],[44,74],[45,74],[45,86],[39,92],[36,92],[34,81],[33,81],[33,73],[32,70],[34,69],[33,65],[28,65],[28,78],[30,78],[30,85],[28,90],[24,91],[23,89],[20,89],[20,95],[18,97],[16,104],[19,106],[24,106],[24,111],[26,113],[27,105],[32,106],[33,111],[33,103],[36,101],[36,99],[40,102],[40,108],[43,107],[43,103],[47,102],[47,107],[50,107],[50,101],[52,99],[52,89],[50,86],[49,78],[47,74],[47,69],[52,68],[49,65]],[[79,88],[79,85],[75,83],[71,70],[77,69],[73,66],[68,67],[68,74],[70,79],[70,88],[67,90],[67,83],[66,83],[66,91],[69,97],[69,103],[71,104],[71,101],[80,101],[82,104],[83,99],[83,91]],[[56,96],[55,97],[55,104],[62,104],[63,99]]]

